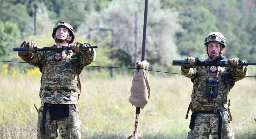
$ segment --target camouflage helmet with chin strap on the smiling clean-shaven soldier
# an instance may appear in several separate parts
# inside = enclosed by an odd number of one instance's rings
[[[56,35],[56,30],[59,27],[65,27],[69,30],[67,38],[66,39],[55,39],[55,42],[64,42],[64,41],[68,41],[68,43],[72,43],[75,39],[75,32],[74,32],[74,28],[67,22],[61,21],[59,22],[55,27],[53,27],[52,29],[52,38],[54,39],[54,35]],[[72,40],[68,40],[69,36],[72,36]]]

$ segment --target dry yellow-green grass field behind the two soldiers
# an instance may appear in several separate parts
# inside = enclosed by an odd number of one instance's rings
[[[22,78],[21,78],[22,77]],[[34,139],[40,106],[40,78],[4,76],[0,80],[0,139]],[[151,77],[150,99],[141,110],[143,139],[185,139],[192,83],[182,75]],[[81,78],[78,102],[83,139],[125,139],[133,132],[135,107],[129,102],[131,76]],[[236,139],[256,138],[256,80],[245,78],[231,90],[232,128]],[[191,112],[189,113],[191,115]]]

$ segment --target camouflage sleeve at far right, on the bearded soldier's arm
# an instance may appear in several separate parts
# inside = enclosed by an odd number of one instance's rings
[[[246,63],[246,61],[242,61],[242,63]],[[247,66],[241,66],[236,69],[231,69],[231,75],[235,82],[245,78],[248,76]]]

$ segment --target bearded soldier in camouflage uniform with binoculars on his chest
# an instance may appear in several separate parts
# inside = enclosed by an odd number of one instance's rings
[[[220,32],[211,32],[204,40],[206,60],[225,52],[226,39]],[[181,66],[181,73],[194,83],[188,112],[191,115],[188,139],[233,139],[230,121],[230,90],[235,82],[245,78],[246,66],[238,66],[239,58],[229,59],[231,67],[195,66],[195,58],[187,58],[190,66]],[[188,116],[186,115],[186,119]]]

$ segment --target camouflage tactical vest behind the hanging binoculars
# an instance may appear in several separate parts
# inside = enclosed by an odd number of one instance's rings
[[[218,80],[218,95],[216,97],[212,97],[213,102],[218,103],[227,103],[230,98],[229,94],[229,85],[223,83],[223,76],[226,70],[223,67],[218,68],[218,73],[209,73],[207,67],[198,67],[197,76],[194,80],[195,83],[195,92],[194,92],[194,101],[195,102],[209,102],[209,96],[206,96],[206,79],[213,80],[214,77],[217,76]],[[210,76],[208,76],[210,74]]]

